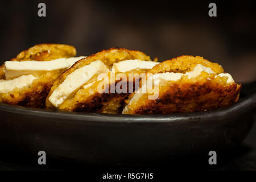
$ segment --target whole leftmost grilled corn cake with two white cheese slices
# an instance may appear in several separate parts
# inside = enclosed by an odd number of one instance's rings
[[[0,101],[44,108],[49,89],[59,75],[83,57],[64,44],[38,44],[1,66]]]

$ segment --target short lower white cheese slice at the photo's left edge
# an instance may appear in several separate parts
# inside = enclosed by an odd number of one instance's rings
[[[34,80],[33,75],[23,75],[13,80],[0,80],[0,93],[8,93],[15,88],[22,88],[23,86],[30,85]]]

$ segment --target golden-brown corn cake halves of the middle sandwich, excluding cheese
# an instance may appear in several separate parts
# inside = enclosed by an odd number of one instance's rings
[[[132,51],[125,48],[110,48],[109,50],[104,50],[98,52],[94,55],[88,56],[85,59],[77,61],[75,65],[65,71],[53,84],[51,91],[48,94],[46,100],[46,106],[49,109],[53,109],[53,105],[49,102],[48,98],[51,96],[52,92],[65,80],[65,78],[74,72],[76,69],[88,65],[96,60],[101,60],[106,67],[112,68],[114,63],[118,63],[122,60],[133,60],[141,59],[150,61],[150,57],[140,51]],[[118,84],[121,80],[110,81],[109,73],[109,89],[110,84]],[[67,100],[59,106],[59,110],[67,111],[87,111],[87,112],[103,112],[103,113],[121,113],[122,101],[129,95],[128,92],[124,94],[118,93],[99,93],[98,85],[102,83],[102,80],[93,82],[92,86],[88,88],[81,87],[76,93],[69,96]],[[111,106],[110,106],[111,105]],[[111,108],[110,108],[111,107]]]

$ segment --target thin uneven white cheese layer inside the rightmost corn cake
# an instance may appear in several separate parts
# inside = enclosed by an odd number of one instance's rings
[[[191,72],[187,72],[187,73],[172,73],[172,72],[167,72],[167,73],[158,73],[155,75],[152,75],[150,77],[148,77],[148,81],[146,81],[146,83],[144,83],[142,85],[142,87],[137,90],[137,92],[135,92],[134,96],[131,98],[130,102],[128,105],[125,106],[125,109],[123,109],[122,113],[128,113],[129,111],[129,105],[133,104],[133,102],[137,102],[139,100],[139,98],[141,98],[143,96],[143,94],[147,93],[147,87],[148,87],[148,82],[154,82],[154,87],[158,88],[159,82],[160,80],[164,80],[164,81],[178,81],[181,79],[181,77],[187,75],[188,78],[194,78],[197,77],[199,75],[201,75],[201,72],[207,72],[209,74],[216,74],[212,71],[212,69],[204,67],[201,64],[197,64],[196,67],[191,71]],[[232,83],[234,82],[232,76],[229,73],[220,73],[217,76],[226,76],[228,77],[227,82],[228,83]]]

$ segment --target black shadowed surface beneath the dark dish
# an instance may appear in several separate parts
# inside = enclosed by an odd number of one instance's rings
[[[148,159],[143,164],[83,164],[77,162],[64,162],[63,160],[55,160],[47,158],[46,166],[39,166],[38,158],[31,156],[19,155],[17,153],[2,153],[1,170],[85,170],[92,173],[104,172],[138,172],[153,171],[166,172],[168,170],[256,170],[256,150],[254,147],[245,144],[227,150],[219,150],[217,152],[217,165],[209,165],[208,151],[204,154],[176,156],[175,158],[164,159]],[[156,161],[158,160],[158,161]]]

